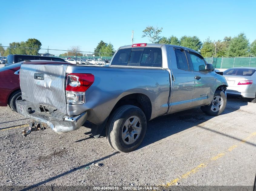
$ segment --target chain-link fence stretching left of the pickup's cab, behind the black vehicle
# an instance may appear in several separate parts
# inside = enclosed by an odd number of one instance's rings
[[[2,47],[2,51],[1,51]],[[50,56],[58,58],[81,58],[81,59],[108,59],[110,60],[114,53],[94,53],[86,51],[74,50],[58,50],[58,49],[38,49],[29,47],[0,46],[1,56],[9,54],[33,55],[33,56]]]

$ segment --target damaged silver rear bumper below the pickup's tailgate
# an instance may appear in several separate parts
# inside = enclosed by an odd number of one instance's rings
[[[88,117],[87,112],[76,116],[68,116],[59,111],[55,111],[51,114],[36,112],[33,110],[35,104],[27,100],[16,101],[16,107],[18,113],[52,128],[53,131],[59,134],[79,129]]]

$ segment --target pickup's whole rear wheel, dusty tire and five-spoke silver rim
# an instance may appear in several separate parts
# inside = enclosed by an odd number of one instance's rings
[[[111,114],[106,128],[109,145],[120,152],[134,151],[147,129],[145,113],[138,107],[124,105]]]

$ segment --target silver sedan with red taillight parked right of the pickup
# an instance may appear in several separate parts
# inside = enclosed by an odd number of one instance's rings
[[[236,67],[229,68],[223,72],[228,82],[227,94],[250,98],[256,103],[256,68]]]

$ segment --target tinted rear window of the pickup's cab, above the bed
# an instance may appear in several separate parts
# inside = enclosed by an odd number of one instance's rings
[[[162,51],[154,47],[119,49],[111,65],[162,67]]]

